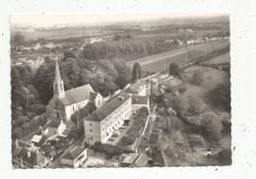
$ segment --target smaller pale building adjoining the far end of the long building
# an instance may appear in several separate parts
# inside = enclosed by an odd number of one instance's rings
[[[133,95],[132,96],[132,112],[137,113],[140,108],[146,107],[150,111],[150,98],[148,95]]]

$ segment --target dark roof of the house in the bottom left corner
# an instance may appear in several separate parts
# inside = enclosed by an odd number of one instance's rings
[[[46,156],[36,153],[34,151],[30,151],[29,149],[21,149],[20,153],[18,154],[18,157],[23,159],[23,161],[31,166],[38,165],[45,159],[47,159]]]

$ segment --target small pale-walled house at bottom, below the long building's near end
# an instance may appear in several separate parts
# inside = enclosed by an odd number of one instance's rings
[[[61,164],[77,168],[81,166],[87,159],[87,149],[76,147],[71,149],[61,158]]]

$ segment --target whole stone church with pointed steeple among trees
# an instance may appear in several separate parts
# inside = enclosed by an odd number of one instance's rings
[[[96,92],[90,84],[65,91],[58,61],[55,64],[53,92],[54,95],[46,107],[46,113],[50,120],[69,122],[72,114],[85,107],[89,102],[93,102],[96,108],[99,108],[103,102],[102,95]]]

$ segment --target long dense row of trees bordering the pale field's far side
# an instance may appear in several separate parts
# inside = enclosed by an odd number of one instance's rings
[[[118,38],[87,44],[83,49],[83,55],[92,60],[114,58],[132,60],[170,50],[174,45],[174,42],[166,43],[164,39]]]

